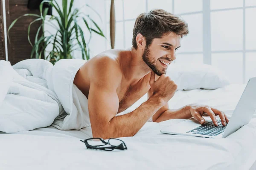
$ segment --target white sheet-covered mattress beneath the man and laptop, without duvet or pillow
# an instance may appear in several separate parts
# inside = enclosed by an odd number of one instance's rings
[[[190,103],[210,105],[229,117],[245,85],[232,84],[216,90],[177,91],[169,107],[177,109]],[[133,111],[146,100],[143,96]],[[160,133],[161,126],[184,121],[148,121],[133,137],[122,139],[125,151],[88,150],[80,139],[90,137],[90,127],[58,130],[49,126],[27,132],[0,135],[1,169],[256,169],[256,115],[248,125],[225,139],[201,139]],[[253,165],[254,164],[254,165]]]

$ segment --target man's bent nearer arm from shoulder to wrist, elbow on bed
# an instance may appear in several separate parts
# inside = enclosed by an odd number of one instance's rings
[[[116,116],[119,108],[116,89],[122,79],[118,65],[108,57],[98,59],[91,77],[88,109],[93,137],[108,139],[134,136],[165,104],[155,94],[131,113]]]

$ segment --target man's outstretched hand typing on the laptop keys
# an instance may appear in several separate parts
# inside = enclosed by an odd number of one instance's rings
[[[198,120],[202,125],[205,123],[204,118],[202,117],[204,114],[207,114],[211,117],[212,122],[218,126],[217,120],[216,120],[216,115],[218,115],[221,119],[222,125],[226,126],[226,122],[229,122],[229,119],[227,116],[224,114],[224,112],[219,111],[215,108],[211,108],[209,106],[202,106],[198,104],[190,104],[187,105],[186,108],[189,110],[188,113],[190,113],[195,119]]]

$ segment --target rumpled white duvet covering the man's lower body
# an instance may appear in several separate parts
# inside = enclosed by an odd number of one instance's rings
[[[13,133],[53,125],[90,126],[87,98],[73,84],[82,59],[0,61],[0,131]]]

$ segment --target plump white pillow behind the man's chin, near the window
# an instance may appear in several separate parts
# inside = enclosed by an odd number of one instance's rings
[[[171,64],[166,75],[177,84],[178,90],[216,89],[230,84],[223,72],[207,64]]]

